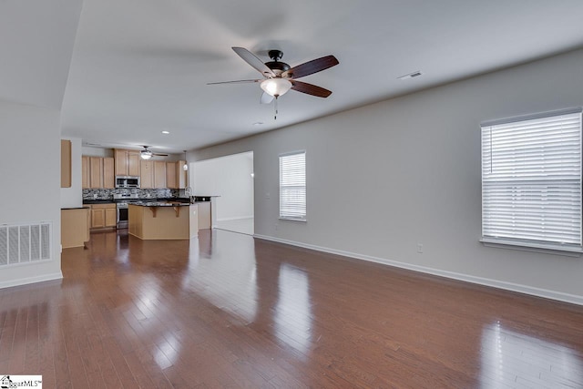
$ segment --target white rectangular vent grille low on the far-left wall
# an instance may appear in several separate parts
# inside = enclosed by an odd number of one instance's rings
[[[52,224],[0,225],[0,267],[51,259]]]

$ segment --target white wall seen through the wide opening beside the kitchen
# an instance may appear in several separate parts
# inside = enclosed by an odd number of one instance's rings
[[[241,153],[190,164],[192,187],[197,196],[216,199],[216,220],[253,217],[253,153]]]

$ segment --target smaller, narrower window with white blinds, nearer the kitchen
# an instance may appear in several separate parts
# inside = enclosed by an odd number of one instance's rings
[[[306,153],[280,156],[280,219],[306,220]]]

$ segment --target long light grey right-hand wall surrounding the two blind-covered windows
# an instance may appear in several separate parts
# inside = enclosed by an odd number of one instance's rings
[[[479,123],[583,105],[582,63],[578,50],[190,155],[254,151],[260,237],[583,303],[583,259],[478,242]],[[307,223],[278,220],[278,154],[297,149]]]

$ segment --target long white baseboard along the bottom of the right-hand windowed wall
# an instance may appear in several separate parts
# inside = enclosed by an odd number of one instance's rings
[[[530,295],[537,296],[537,297],[543,297],[546,299],[557,300],[559,302],[569,302],[572,304],[583,305],[583,296],[579,296],[577,294],[550,291],[547,289],[536,288],[536,287],[532,287],[532,286],[528,286],[528,285],[522,285],[519,283],[492,280],[492,279],[483,278],[483,277],[476,277],[473,275],[458,273],[455,271],[442,271],[439,269],[427,268],[424,266],[413,265],[413,264],[405,263],[405,262],[401,262],[401,261],[391,261],[391,260],[387,260],[384,258],[373,257],[370,255],[363,255],[363,254],[359,254],[356,252],[335,250],[335,249],[330,249],[327,247],[315,246],[312,244],[306,244],[306,243],[301,243],[301,242],[297,242],[297,241],[287,241],[284,239],[274,238],[274,237],[266,236],[266,235],[255,234],[255,235],[253,235],[253,237],[258,238],[258,239],[262,239],[265,241],[276,241],[279,243],[290,244],[292,246],[302,247],[304,249],[311,249],[311,250],[315,250],[315,251],[322,251],[322,252],[328,252],[331,254],[342,255],[344,257],[354,258],[357,260],[382,263],[384,265],[394,266],[394,267],[400,268],[400,269],[424,272],[427,274],[437,275],[440,277],[445,277],[445,278],[449,278],[449,279],[453,279],[453,280],[477,283],[479,285],[485,285],[485,286],[489,286],[492,288],[503,289],[506,291],[530,294]]]

